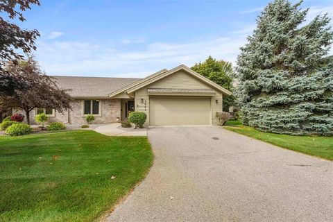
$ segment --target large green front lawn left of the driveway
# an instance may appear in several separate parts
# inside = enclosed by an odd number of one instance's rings
[[[146,137],[90,130],[0,137],[0,221],[93,221],[152,162]]]

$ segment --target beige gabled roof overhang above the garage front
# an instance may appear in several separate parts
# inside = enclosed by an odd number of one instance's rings
[[[130,84],[126,87],[123,87],[115,92],[112,92],[111,94],[109,94],[109,96],[111,98],[113,98],[114,96],[117,96],[118,94],[121,94],[123,92],[126,92],[126,94],[132,94],[133,92],[137,91],[137,89],[141,89],[142,87],[145,87],[146,85],[149,85],[151,83],[154,83],[157,80],[160,80],[164,77],[167,77],[173,73],[176,73],[177,71],[186,71],[188,74],[190,74],[191,76],[194,76],[194,78],[198,78],[199,80],[203,81],[203,83],[206,83],[207,85],[210,85],[210,87],[216,89],[217,91],[230,96],[231,92],[228,89],[225,89],[223,87],[221,87],[220,85],[217,85],[216,83],[212,82],[211,80],[209,80],[208,78],[205,78],[204,76],[201,76],[200,74],[196,73],[195,71],[189,69],[189,67],[185,66],[185,65],[180,65],[176,68],[173,68],[171,70],[167,70],[167,69],[162,69],[161,71],[157,71],[157,73],[148,76],[146,78],[143,78],[142,80],[138,80],[137,82]]]

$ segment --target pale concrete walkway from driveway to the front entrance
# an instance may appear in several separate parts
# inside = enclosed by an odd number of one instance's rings
[[[112,123],[105,126],[99,126],[94,129],[97,133],[101,133],[107,136],[116,136],[116,137],[137,137],[147,136],[147,128],[122,128],[120,123]]]

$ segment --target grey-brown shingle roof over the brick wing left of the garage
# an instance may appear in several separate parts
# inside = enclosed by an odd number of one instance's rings
[[[103,98],[108,94],[134,83],[140,78],[105,78],[81,76],[53,76],[60,89],[71,89],[69,94],[80,98]]]

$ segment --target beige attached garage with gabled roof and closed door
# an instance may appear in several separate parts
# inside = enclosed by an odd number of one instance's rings
[[[231,92],[185,65],[157,73],[112,92],[112,99],[134,100],[147,115],[145,125],[218,125],[216,112]]]

